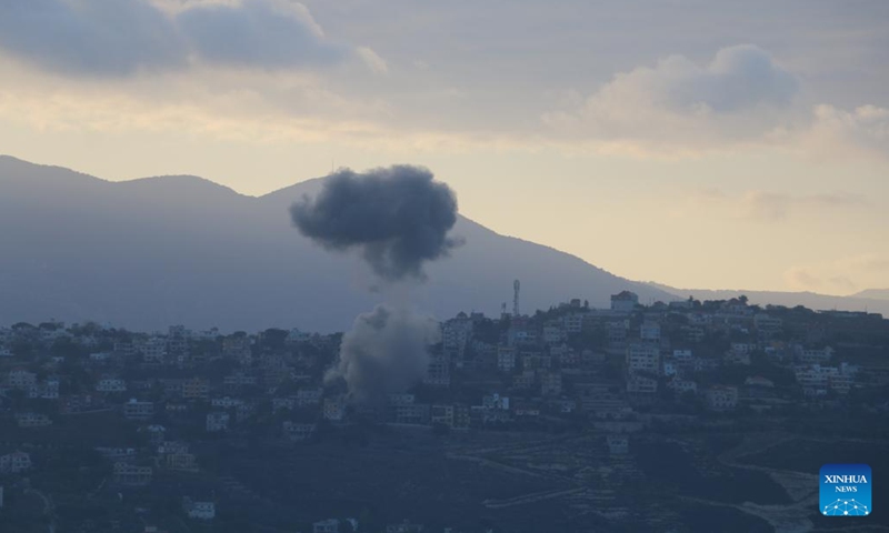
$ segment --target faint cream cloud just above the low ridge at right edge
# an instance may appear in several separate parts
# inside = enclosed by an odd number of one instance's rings
[[[795,290],[850,294],[889,285],[889,255],[862,253],[833,261],[791,266],[785,281]]]

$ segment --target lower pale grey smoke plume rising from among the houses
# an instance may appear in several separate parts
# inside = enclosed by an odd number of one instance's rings
[[[377,305],[359,314],[342,336],[339,361],[326,380],[342,378],[356,401],[380,403],[387,394],[403,392],[422,379],[429,366],[429,345],[439,339],[434,319]]]

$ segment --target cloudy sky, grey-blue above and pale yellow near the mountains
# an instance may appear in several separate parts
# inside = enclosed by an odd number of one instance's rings
[[[889,286],[889,2],[0,0],[0,153],[262,194],[429,167],[679,288]]]

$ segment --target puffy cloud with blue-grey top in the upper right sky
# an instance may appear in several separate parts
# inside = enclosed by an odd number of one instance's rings
[[[705,66],[671,56],[652,67],[617,74],[579,109],[552,112],[555,131],[648,149],[712,145],[760,139],[782,123],[797,78],[765,50],[741,44],[719,50]]]

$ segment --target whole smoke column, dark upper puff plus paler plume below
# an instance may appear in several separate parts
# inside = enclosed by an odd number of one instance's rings
[[[460,244],[448,237],[457,199],[423,168],[397,165],[362,174],[341,170],[314,199],[290,208],[299,231],[328,250],[357,249],[388,282],[426,280],[423,264]],[[343,379],[359,402],[381,402],[422,379],[438,322],[404,305],[380,304],[358,315],[342,338],[327,381]]]

